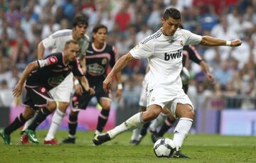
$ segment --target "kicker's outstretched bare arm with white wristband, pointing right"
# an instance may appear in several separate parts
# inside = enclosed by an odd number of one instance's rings
[[[201,40],[201,45],[206,45],[206,46],[240,46],[242,44],[242,41],[239,39],[235,39],[235,40],[221,40],[218,38],[213,38],[211,36],[208,35],[204,35],[202,36],[202,40]]]

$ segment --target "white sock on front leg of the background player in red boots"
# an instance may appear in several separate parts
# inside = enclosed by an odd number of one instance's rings
[[[59,126],[61,125],[65,113],[62,113],[58,108],[56,109],[55,113],[53,114],[52,122],[50,124],[50,128],[46,135],[45,140],[52,140],[54,138],[55,133],[57,132]]]

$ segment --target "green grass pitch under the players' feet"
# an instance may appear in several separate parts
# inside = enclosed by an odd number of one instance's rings
[[[43,145],[46,130],[38,130],[39,145],[21,145],[19,132],[11,135],[12,145],[0,140],[0,162],[256,162],[256,137],[188,135],[182,152],[193,159],[157,158],[149,135],[138,146],[129,145],[131,131],[100,146],[92,145],[92,132],[78,132],[75,145]],[[67,131],[58,131],[62,140]],[[171,137],[171,134],[166,134]],[[1,138],[1,137],[0,137]]]

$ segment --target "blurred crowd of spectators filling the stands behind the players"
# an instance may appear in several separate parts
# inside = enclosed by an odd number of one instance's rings
[[[36,60],[38,43],[72,28],[76,15],[87,16],[88,35],[95,24],[105,24],[108,43],[120,57],[161,27],[169,7],[181,11],[183,27],[193,33],[242,40],[235,48],[196,46],[215,82],[206,81],[198,65],[186,63],[195,108],[255,109],[256,0],[0,0],[0,92],[12,89],[26,64]],[[138,103],[146,65],[136,60],[122,72],[124,103]]]

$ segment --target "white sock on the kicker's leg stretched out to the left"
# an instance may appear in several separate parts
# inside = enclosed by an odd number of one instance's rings
[[[115,127],[114,129],[109,130],[107,133],[110,135],[110,138],[112,139],[126,130],[132,130],[134,128],[139,127],[139,125],[143,124],[144,121],[142,120],[142,112],[140,112],[126,120],[124,123],[117,125],[117,127]]]

